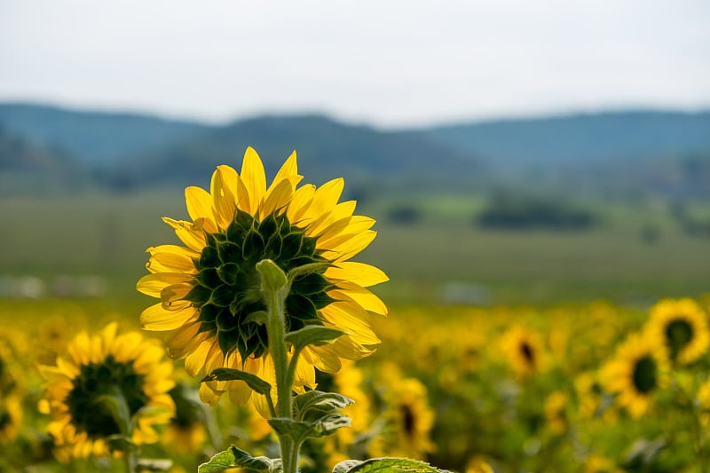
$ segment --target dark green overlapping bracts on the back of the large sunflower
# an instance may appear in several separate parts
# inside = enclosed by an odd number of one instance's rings
[[[268,348],[266,327],[258,312],[266,310],[261,295],[261,276],[256,264],[271,259],[288,272],[304,264],[324,263],[316,238],[288,222],[285,215],[271,214],[259,221],[241,210],[225,232],[208,233],[207,246],[194,261],[194,288],[185,299],[200,311],[200,331],[217,336],[225,356],[238,350],[242,359],[260,357]],[[323,276],[326,266],[296,277],[286,298],[287,329],[322,325],[318,310],[333,302],[326,292],[332,285]]]

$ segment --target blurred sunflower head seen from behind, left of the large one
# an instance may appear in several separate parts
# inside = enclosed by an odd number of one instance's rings
[[[46,379],[40,410],[51,415],[47,430],[61,461],[117,450],[111,439],[122,429],[106,408],[106,396],[125,401],[135,445],[158,441],[154,427],[175,414],[172,363],[163,358],[160,343],[144,341],[138,332],[116,335],[116,327],[111,323],[98,335],[76,335],[56,366],[40,367]]]

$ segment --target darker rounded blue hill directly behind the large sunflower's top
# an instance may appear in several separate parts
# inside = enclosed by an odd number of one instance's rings
[[[208,185],[218,164],[239,169],[247,146],[256,148],[272,173],[296,150],[299,169],[315,183],[347,176],[360,187],[463,185],[480,171],[471,153],[454,151],[422,132],[378,131],[321,115],[263,116],[125,160],[112,169],[110,184]]]

